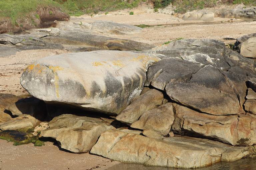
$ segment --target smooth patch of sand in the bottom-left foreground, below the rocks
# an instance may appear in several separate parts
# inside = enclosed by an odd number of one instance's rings
[[[1,170],[104,170],[118,163],[89,153],[61,151],[52,142],[35,147],[32,143],[13,146],[0,140]]]

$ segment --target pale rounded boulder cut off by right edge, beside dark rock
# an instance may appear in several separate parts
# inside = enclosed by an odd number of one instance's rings
[[[256,58],[256,37],[249,38],[241,45],[241,55]]]

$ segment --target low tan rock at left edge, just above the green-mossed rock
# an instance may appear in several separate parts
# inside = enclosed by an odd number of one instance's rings
[[[13,118],[10,121],[0,123],[1,130],[18,130],[24,128],[34,128],[39,125],[41,122],[36,118],[23,114],[17,118]]]

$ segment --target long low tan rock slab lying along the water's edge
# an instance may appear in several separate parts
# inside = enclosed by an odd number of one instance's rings
[[[127,163],[196,168],[221,160],[241,159],[250,154],[248,147],[237,147],[235,149],[239,150],[239,153],[230,157],[230,151],[233,149],[233,146],[207,139],[176,136],[160,140],[109,130],[101,134],[90,153]]]

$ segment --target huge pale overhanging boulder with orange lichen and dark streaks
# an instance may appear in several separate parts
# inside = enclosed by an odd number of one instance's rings
[[[148,66],[159,60],[129,51],[60,54],[29,65],[20,82],[44,101],[119,114],[140,94]]]

